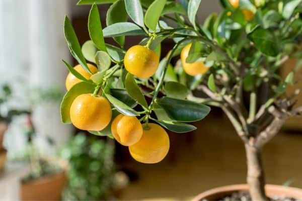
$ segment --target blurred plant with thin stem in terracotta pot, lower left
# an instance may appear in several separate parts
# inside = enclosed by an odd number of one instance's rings
[[[39,155],[33,144],[35,128],[31,116],[27,121],[28,160],[30,172],[21,180],[22,200],[60,200],[66,183],[66,162]],[[51,138],[47,141],[53,145]]]

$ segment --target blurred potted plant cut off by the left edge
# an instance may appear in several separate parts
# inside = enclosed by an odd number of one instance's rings
[[[12,122],[14,116],[29,114],[29,111],[8,109],[6,105],[12,95],[12,90],[8,84],[1,86],[0,91],[0,170],[4,168],[6,161],[6,153],[3,146],[3,140],[5,132],[7,131],[9,124]]]

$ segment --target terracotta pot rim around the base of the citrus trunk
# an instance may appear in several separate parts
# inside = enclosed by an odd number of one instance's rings
[[[231,195],[233,192],[248,191],[248,190],[249,187],[247,184],[226,185],[226,186],[207,190],[194,197],[192,201],[199,201],[202,199],[218,200],[225,196]],[[294,188],[294,187],[267,184],[265,185],[265,191],[267,196],[279,195],[279,196],[294,197],[296,199],[302,198],[302,189]]]

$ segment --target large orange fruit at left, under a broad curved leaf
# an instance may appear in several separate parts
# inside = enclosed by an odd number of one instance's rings
[[[81,130],[101,131],[110,123],[111,117],[109,101],[89,93],[76,97],[70,107],[70,120]]]

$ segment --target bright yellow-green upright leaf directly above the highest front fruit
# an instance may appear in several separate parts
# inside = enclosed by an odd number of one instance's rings
[[[166,0],[155,0],[147,9],[144,17],[144,23],[146,26],[155,31],[157,23],[160,20],[160,16],[166,5]]]

